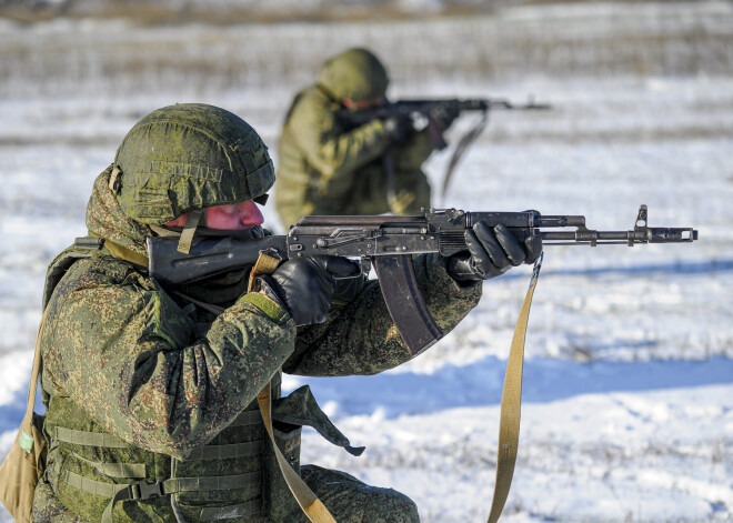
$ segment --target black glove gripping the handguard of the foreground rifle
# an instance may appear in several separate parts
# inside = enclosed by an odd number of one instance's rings
[[[469,252],[445,260],[448,273],[458,281],[491,280],[522,263],[534,263],[542,253],[542,239],[531,237],[521,242],[502,224],[493,229],[479,222],[466,229]]]

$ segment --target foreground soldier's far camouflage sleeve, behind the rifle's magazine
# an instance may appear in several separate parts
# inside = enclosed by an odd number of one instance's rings
[[[415,273],[431,314],[452,330],[478,303],[482,285],[461,285],[448,275],[436,254],[418,257]],[[379,282],[369,280],[357,298],[334,308],[323,325],[301,329],[295,352],[283,365],[291,374],[376,374],[410,360],[390,318]]]

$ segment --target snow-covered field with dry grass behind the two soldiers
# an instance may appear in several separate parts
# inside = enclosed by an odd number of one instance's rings
[[[311,28],[317,50],[329,42],[332,49],[355,42],[382,49],[396,71],[395,95],[524,101],[533,94],[553,104],[552,111],[492,113],[449,193],[436,190],[436,203],[583,214],[590,228],[603,230],[631,229],[645,203],[650,225],[700,231],[693,244],[545,250],[526,340],[520,453],[502,521],[733,521],[733,24],[726,26],[733,7],[654,6],[538,6],[471,20],[469,29],[424,22],[426,33],[435,29],[441,38],[479,34],[484,23],[503,36],[519,28],[525,40],[564,36],[596,49],[589,57],[565,40],[559,54],[545,57],[552,68],[540,67],[541,73],[521,60],[511,69],[504,57],[499,63],[511,70],[505,78],[491,71],[456,76],[444,69],[446,53],[439,49],[438,72],[409,76],[402,67],[409,54],[390,56],[375,38],[406,41],[416,22]],[[589,20],[595,20],[592,28]],[[694,28],[701,39],[691,37]],[[285,42],[283,57],[304,56],[290,47],[293,32],[305,34],[300,26],[257,30],[267,42]],[[716,31],[721,38],[707,38]],[[644,42],[662,47],[632,43],[652,33]],[[250,121],[277,153],[279,124],[301,86],[294,79],[307,78],[312,64],[262,66],[258,73],[264,76],[248,82],[222,63],[237,54],[235,34],[237,28],[201,26],[155,31],[121,22],[0,23],[8,80],[0,86],[0,455],[24,409],[46,265],[84,233],[92,180],[134,121],[177,101],[215,103]],[[594,34],[627,42],[619,48],[626,54],[613,62],[616,69],[593,47]],[[77,47],[62,44],[71,41]],[[159,46],[145,61],[138,46],[151,41]],[[423,60],[421,71],[430,70],[430,42],[413,50]],[[455,46],[449,49],[456,60],[465,59]],[[151,76],[163,47],[172,64]],[[215,67],[202,71],[194,61],[177,68],[177,49],[190,58],[205,56],[207,47]],[[632,51],[642,61],[659,52],[666,63],[635,70]],[[691,67],[686,60],[694,56],[715,67]],[[106,60],[116,61],[109,57],[125,63],[130,78],[108,68]],[[568,74],[553,69],[562,60]],[[187,74],[189,83],[181,81]],[[284,80],[270,86],[268,74]],[[455,142],[471,123],[463,117],[449,139]],[[435,188],[448,158],[436,154],[426,165]],[[282,231],[274,210],[264,212]],[[479,308],[400,369],[369,378],[287,378],[288,389],[309,383],[351,441],[368,446],[352,457],[307,431],[303,462],[401,490],[425,522],[485,520],[504,365],[530,273],[522,268],[486,282]],[[1,510],[0,521],[10,521]]]

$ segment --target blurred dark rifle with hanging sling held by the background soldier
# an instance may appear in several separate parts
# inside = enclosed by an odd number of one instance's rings
[[[432,139],[433,145],[438,150],[445,149],[448,143],[443,138],[443,131],[438,128],[434,114],[439,113],[454,113],[461,114],[463,112],[479,112],[481,118],[476,120],[473,127],[466,131],[463,137],[458,141],[455,148],[453,149],[453,154],[451,155],[448,167],[445,168],[445,175],[443,177],[443,187],[441,190],[441,195],[445,200],[445,194],[448,192],[448,187],[451,182],[453,171],[455,165],[463,157],[463,153],[473,143],[473,141],[479,138],[479,134],[484,130],[486,123],[489,122],[489,112],[493,110],[508,110],[508,111],[535,111],[535,110],[546,110],[551,109],[548,103],[536,103],[532,98],[526,103],[513,103],[504,99],[491,99],[491,98],[469,98],[469,99],[450,99],[450,98],[436,98],[436,99],[414,99],[414,100],[396,100],[393,102],[386,102],[382,105],[370,107],[365,109],[341,109],[337,111],[337,117],[344,125],[345,129],[350,130],[359,125],[363,125],[373,120],[385,120],[395,115],[405,115],[409,117],[413,127],[416,127],[419,122],[426,122],[426,129]],[[388,178],[388,199],[393,198],[393,165],[390,154],[384,157],[384,168],[386,170]]]

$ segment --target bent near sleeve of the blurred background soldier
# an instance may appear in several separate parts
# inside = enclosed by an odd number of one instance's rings
[[[348,193],[355,170],[384,153],[388,138],[381,121],[344,132],[332,105],[315,92],[307,93],[293,108],[288,125],[308,162],[321,174],[320,192],[334,198]]]

